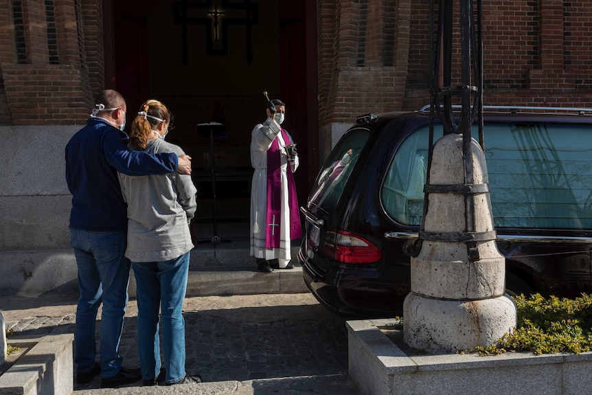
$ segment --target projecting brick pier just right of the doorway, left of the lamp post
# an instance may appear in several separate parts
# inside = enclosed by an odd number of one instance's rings
[[[400,109],[411,1],[318,1],[319,124]]]

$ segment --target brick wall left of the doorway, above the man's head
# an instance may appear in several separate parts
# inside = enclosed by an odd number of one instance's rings
[[[104,84],[101,4],[96,0],[2,2],[1,124],[82,124],[87,120],[93,95]]]

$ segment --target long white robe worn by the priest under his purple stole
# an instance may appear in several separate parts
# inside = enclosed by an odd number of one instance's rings
[[[265,260],[278,259],[280,267],[285,267],[291,259],[291,238],[290,238],[290,210],[288,207],[288,174],[286,171],[294,172],[298,168],[298,155],[292,162],[288,162],[288,157],[284,150],[287,144],[293,144],[293,141],[284,142],[282,138],[282,129],[271,118],[267,118],[263,124],[258,124],[251,133],[251,166],[255,169],[253,172],[253,181],[251,183],[251,256],[255,258],[264,258]],[[288,132],[286,132],[288,134]],[[292,137],[288,134],[292,140]],[[267,212],[267,150],[271,148],[273,139],[277,138],[280,144],[281,155],[281,190],[282,190],[282,211],[281,221],[271,221],[266,223]],[[288,168],[291,166],[291,169]],[[281,225],[277,225],[277,224]],[[280,232],[280,247],[265,247],[265,229],[273,227],[273,232]]]

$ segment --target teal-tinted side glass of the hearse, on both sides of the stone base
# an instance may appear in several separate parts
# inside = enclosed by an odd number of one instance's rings
[[[592,228],[588,126],[498,123],[484,134],[495,227]],[[427,141],[422,128],[402,142],[380,191],[386,212],[404,225],[421,224]]]

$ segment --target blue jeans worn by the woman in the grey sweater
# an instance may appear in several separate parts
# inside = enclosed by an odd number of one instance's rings
[[[132,262],[138,302],[138,354],[142,379],[152,380],[161,368],[159,307],[166,382],[185,377],[185,319],[190,253],[162,262]]]

